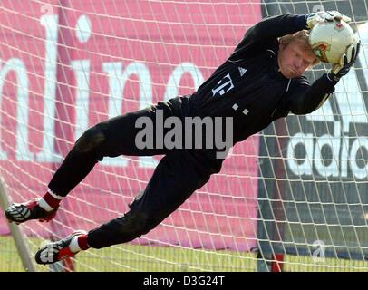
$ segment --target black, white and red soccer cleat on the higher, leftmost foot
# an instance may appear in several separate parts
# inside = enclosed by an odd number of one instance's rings
[[[38,204],[38,198],[31,199],[24,203],[14,203],[5,209],[5,217],[10,222],[16,224],[24,223],[30,219],[38,219],[41,222],[48,222],[56,216],[57,208],[47,211]]]

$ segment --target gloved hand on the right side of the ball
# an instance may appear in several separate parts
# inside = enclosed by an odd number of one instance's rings
[[[349,73],[350,68],[355,63],[361,47],[361,41],[356,40],[347,49],[346,53],[340,58],[340,62],[333,65],[331,71],[327,73],[327,77],[335,82],[339,81],[344,75]]]

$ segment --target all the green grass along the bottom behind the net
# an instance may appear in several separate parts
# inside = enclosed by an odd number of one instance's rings
[[[30,240],[32,253],[40,244],[40,239]],[[75,271],[79,272],[252,272],[257,269],[257,259],[252,253],[181,247],[124,244],[100,250],[90,249],[76,257],[74,266]],[[284,271],[368,271],[368,262],[355,260],[325,258],[314,261],[310,256],[286,256],[284,262]],[[37,271],[49,270],[47,266],[37,266]],[[0,237],[0,272],[24,272],[12,237]]]

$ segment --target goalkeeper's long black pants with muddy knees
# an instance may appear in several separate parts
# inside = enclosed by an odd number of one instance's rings
[[[164,119],[169,116],[183,118],[189,111],[189,99],[181,97],[159,102],[145,110],[93,126],[76,141],[49,183],[49,189],[54,193],[66,196],[105,156],[165,155],[146,189],[130,205],[131,209],[123,217],[112,219],[89,232],[87,242],[90,247],[109,247],[148,233],[219,170],[209,166],[201,150],[138,149],[135,137],[141,129],[136,128],[135,122],[140,117],[149,117],[155,123],[158,110],[162,110]]]

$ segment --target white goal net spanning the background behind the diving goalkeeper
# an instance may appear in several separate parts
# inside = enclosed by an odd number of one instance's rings
[[[263,17],[321,9],[351,16],[363,42],[334,98],[237,144],[220,173],[147,235],[37,270],[366,269],[365,1],[3,0],[0,174],[14,202],[43,196],[90,126],[195,92]],[[45,240],[121,217],[160,158],[105,158],[52,222],[19,226],[30,255]],[[0,270],[21,270],[9,263],[15,247],[4,215],[0,242]]]

